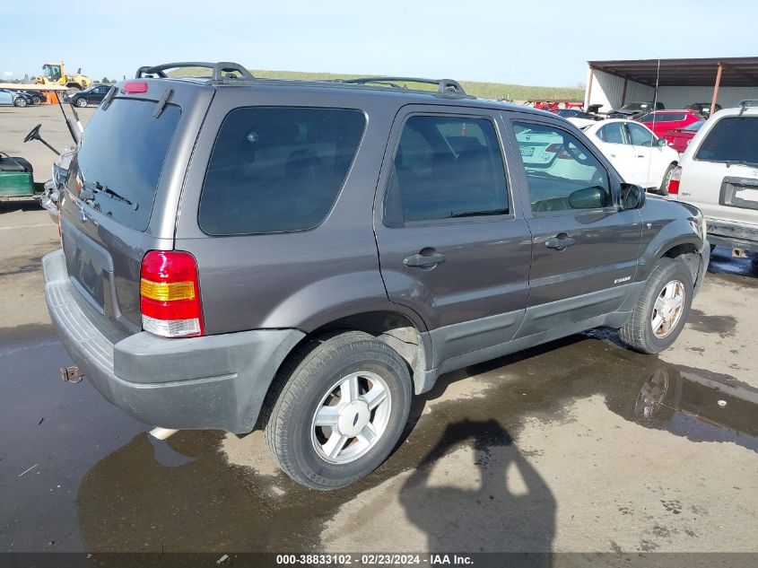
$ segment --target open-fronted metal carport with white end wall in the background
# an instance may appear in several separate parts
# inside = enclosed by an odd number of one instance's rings
[[[589,61],[585,108],[601,111],[625,102],[653,100],[667,109],[684,109],[693,102],[736,107],[740,100],[758,99],[758,57],[697,59],[628,59]]]

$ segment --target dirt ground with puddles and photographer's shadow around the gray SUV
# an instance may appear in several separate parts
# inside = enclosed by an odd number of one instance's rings
[[[46,149],[14,141],[42,118],[0,112],[9,151],[49,168]],[[45,117],[43,135],[64,145]],[[274,467],[260,433],[152,441],[86,380],[62,383],[71,363],[40,267],[57,228],[33,203],[0,204],[0,238],[0,551],[554,551],[618,564],[758,552],[758,269],[726,249],[665,353],[594,331],[445,375],[384,465],[320,494]]]

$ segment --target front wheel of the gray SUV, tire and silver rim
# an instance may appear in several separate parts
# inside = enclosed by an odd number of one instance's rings
[[[676,288],[676,283],[681,286],[681,310],[672,311],[674,304],[670,302],[662,302],[663,306],[657,306],[661,294],[666,293],[670,285]],[[623,343],[634,351],[646,354],[660,353],[673,344],[690,315],[693,288],[693,276],[690,275],[689,269],[682,260],[677,258],[658,260],[648,281],[642,287],[640,299],[632,310],[632,317],[619,330],[619,337]],[[670,292],[670,289],[668,290]],[[661,324],[663,327],[658,329],[658,333],[653,331],[653,327],[659,321],[656,318],[664,319]]]

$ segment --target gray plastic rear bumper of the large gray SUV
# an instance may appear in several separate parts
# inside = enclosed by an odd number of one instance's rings
[[[304,336],[296,329],[128,335],[76,291],[62,250],[42,263],[50,318],[66,351],[105,398],[145,424],[249,432],[274,374]]]

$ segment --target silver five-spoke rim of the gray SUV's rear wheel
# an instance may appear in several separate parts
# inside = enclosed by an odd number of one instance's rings
[[[345,464],[366,455],[387,430],[392,398],[377,373],[353,372],[335,381],[318,403],[310,441],[321,459]]]

